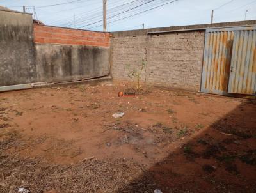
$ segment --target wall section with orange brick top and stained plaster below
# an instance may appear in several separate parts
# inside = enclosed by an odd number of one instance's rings
[[[38,81],[61,82],[110,73],[109,33],[34,26]]]

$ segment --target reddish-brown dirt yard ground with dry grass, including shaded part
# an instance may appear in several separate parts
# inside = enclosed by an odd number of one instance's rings
[[[256,192],[255,101],[125,88],[0,93],[0,192]]]

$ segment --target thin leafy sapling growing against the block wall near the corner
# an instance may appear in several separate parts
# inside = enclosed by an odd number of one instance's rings
[[[141,89],[141,75],[145,67],[146,62],[144,61],[144,59],[141,59],[140,65],[136,66],[136,68],[131,68],[131,65],[127,65],[127,75],[130,79],[136,82],[137,91]]]

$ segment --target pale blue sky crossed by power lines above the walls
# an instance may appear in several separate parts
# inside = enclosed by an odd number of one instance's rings
[[[145,28],[208,24],[211,10],[213,22],[256,20],[256,0],[171,1],[107,0],[108,31],[142,29],[143,24]],[[0,6],[17,11],[26,6],[26,12],[51,26],[102,31],[102,0],[0,0]],[[154,9],[145,12],[150,8]],[[143,13],[134,15],[139,12]]]

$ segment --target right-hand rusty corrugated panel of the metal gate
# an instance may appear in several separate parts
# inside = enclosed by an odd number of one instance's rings
[[[256,27],[235,31],[228,93],[256,94]]]

